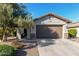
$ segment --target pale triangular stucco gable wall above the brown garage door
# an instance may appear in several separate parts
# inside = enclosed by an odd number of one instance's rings
[[[36,25],[61,25],[66,24],[66,22],[55,18],[55,17],[45,17],[36,21]]]

